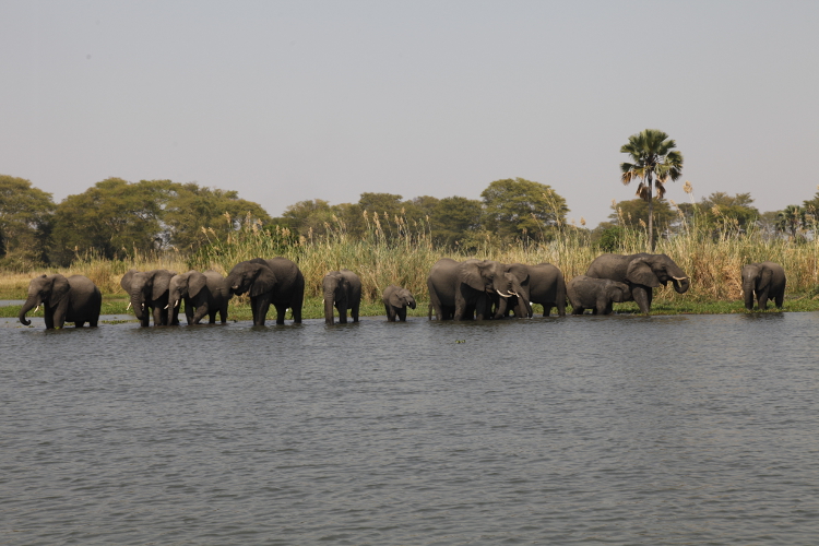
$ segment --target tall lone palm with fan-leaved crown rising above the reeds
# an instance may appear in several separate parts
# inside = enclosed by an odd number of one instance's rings
[[[654,251],[654,207],[653,190],[657,198],[665,194],[663,186],[668,179],[676,180],[682,175],[682,154],[675,151],[677,144],[663,131],[645,129],[629,136],[620,153],[629,154],[632,163],[621,163],[620,180],[628,185],[634,178],[640,179],[637,195],[649,203],[649,246]]]

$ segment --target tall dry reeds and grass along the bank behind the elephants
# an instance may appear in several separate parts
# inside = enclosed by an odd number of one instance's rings
[[[676,294],[670,285],[660,288],[655,292],[653,313],[740,312],[744,309],[741,268],[746,263],[765,260],[781,263],[787,274],[785,310],[819,310],[819,240],[769,237],[758,230],[739,233],[727,223],[721,229],[714,229],[713,226],[698,225],[696,221],[681,222],[679,232],[674,237],[661,238],[655,252],[670,256],[691,277],[691,288],[682,295]],[[265,230],[250,224],[224,240],[212,236],[209,246],[190,257],[167,251],[135,256],[128,261],[85,259],[66,269],[2,274],[0,299],[25,298],[28,282],[37,274],[82,274],[99,286],[105,295],[106,309],[124,312],[127,301],[119,280],[131,268],[142,271],[166,268],[178,272],[215,269],[226,274],[242,260],[283,256],[298,263],[305,275],[306,318],[322,316],[321,278],[328,271],[342,268],[351,269],[361,277],[363,314],[383,314],[381,294],[390,284],[396,284],[410,288],[419,301],[418,309],[411,314],[426,316],[426,278],[440,258],[478,258],[529,264],[549,262],[560,268],[568,282],[583,274],[592,260],[603,253],[598,247],[589,244],[585,233],[571,226],[558,226],[554,239],[548,242],[529,240],[500,245],[490,234],[486,235],[485,241],[473,242],[468,252],[437,248],[425,226],[410,227],[401,218],[390,225],[373,222],[364,238],[348,236],[341,223],[328,235],[298,239],[286,229]],[[627,230],[615,251],[634,253],[645,251],[646,247],[644,232]],[[616,305],[615,309],[630,311],[637,307],[626,304]],[[12,311],[7,308],[2,312]],[[247,298],[235,298],[230,314],[238,320],[249,318]]]

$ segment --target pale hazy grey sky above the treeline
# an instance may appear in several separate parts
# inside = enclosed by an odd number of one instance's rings
[[[365,191],[550,185],[590,226],[661,129],[699,200],[812,198],[816,1],[0,0],[0,174],[238,190],[271,215]]]

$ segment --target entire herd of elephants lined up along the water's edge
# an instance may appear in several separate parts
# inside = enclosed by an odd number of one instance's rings
[[[745,306],[753,308],[757,298],[764,310],[768,300],[782,307],[785,295],[785,271],[773,262],[751,263],[741,271]],[[572,314],[591,309],[593,314],[609,314],[615,302],[636,301],[640,311],[651,310],[653,289],[672,283],[684,294],[690,280],[666,254],[602,254],[589,266],[585,275],[566,283],[560,270],[550,263],[525,265],[505,264],[492,260],[442,258],[432,265],[427,278],[429,318],[438,320],[487,320],[532,317],[532,304],[543,306],[544,317],[556,308],[566,314],[567,299]],[[305,277],[298,265],[286,258],[265,260],[256,258],[238,263],[227,277],[209,270],[177,274],[159,269],[147,272],[131,270],[120,281],[129,295],[129,308],[142,327],[179,324],[180,304],[185,302],[188,324],[198,324],[205,316],[211,323],[219,314],[227,322],[227,304],[234,295],[247,294],[253,314],[253,325],[264,325],[270,306],[276,308],[276,324],[284,324],[290,309],[293,320],[301,322]],[[322,278],[324,321],[333,324],[335,310],[339,322],[358,322],[361,301],[361,280],[349,270],[331,271]],[[406,288],[390,285],[383,292],[383,304],[389,321],[405,321],[407,307],[416,302]],[[62,328],[73,322],[82,328],[86,322],[96,327],[103,297],[94,283],[82,275],[64,277],[60,274],[41,275],[32,280],[28,297],[20,310],[20,322],[29,325],[26,313],[35,306],[44,306],[46,329]]]

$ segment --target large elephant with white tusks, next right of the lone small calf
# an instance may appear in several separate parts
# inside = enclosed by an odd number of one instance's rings
[[[509,298],[523,292],[521,283],[525,278],[522,276],[521,271],[491,260],[456,262],[442,258],[432,265],[427,277],[430,306],[438,320],[489,319],[492,304],[497,304],[500,311],[508,307]],[[503,299],[495,299],[496,295]],[[529,309],[529,301],[521,296],[518,306]]]

